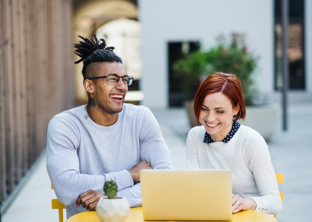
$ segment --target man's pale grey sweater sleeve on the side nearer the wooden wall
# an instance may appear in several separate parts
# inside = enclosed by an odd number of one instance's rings
[[[77,149],[80,132],[75,124],[56,116],[47,130],[46,167],[57,198],[64,205],[76,205],[78,195],[90,189],[102,192],[106,180],[114,180],[119,190],[133,186],[127,170],[87,175],[80,173]]]

